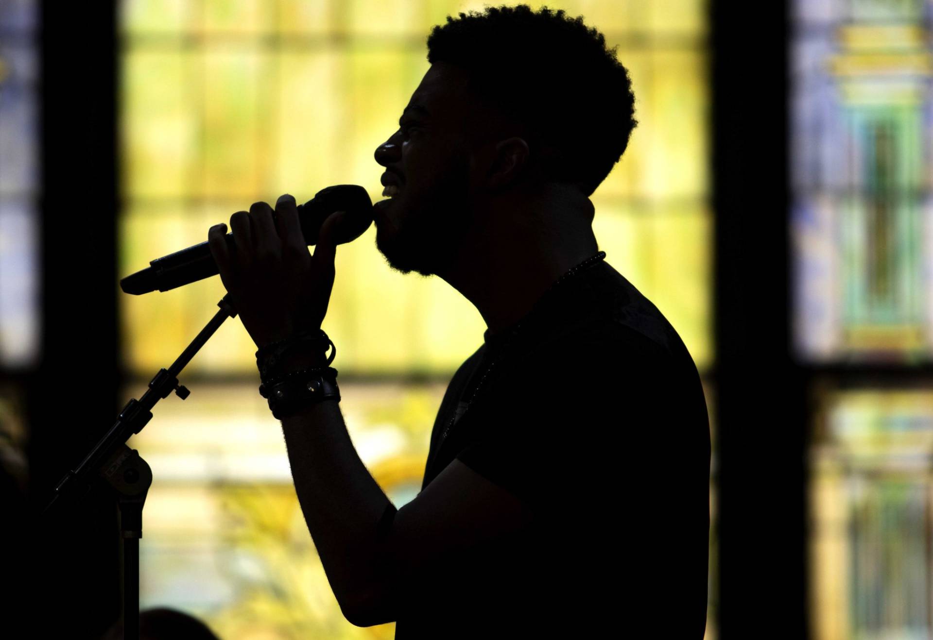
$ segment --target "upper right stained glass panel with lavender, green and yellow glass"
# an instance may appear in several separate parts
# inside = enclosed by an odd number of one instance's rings
[[[812,361],[929,360],[927,5],[795,7],[797,351]]]

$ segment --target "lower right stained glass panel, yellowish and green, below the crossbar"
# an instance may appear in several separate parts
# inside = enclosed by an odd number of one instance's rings
[[[814,637],[928,637],[933,391],[833,390],[819,403]]]

